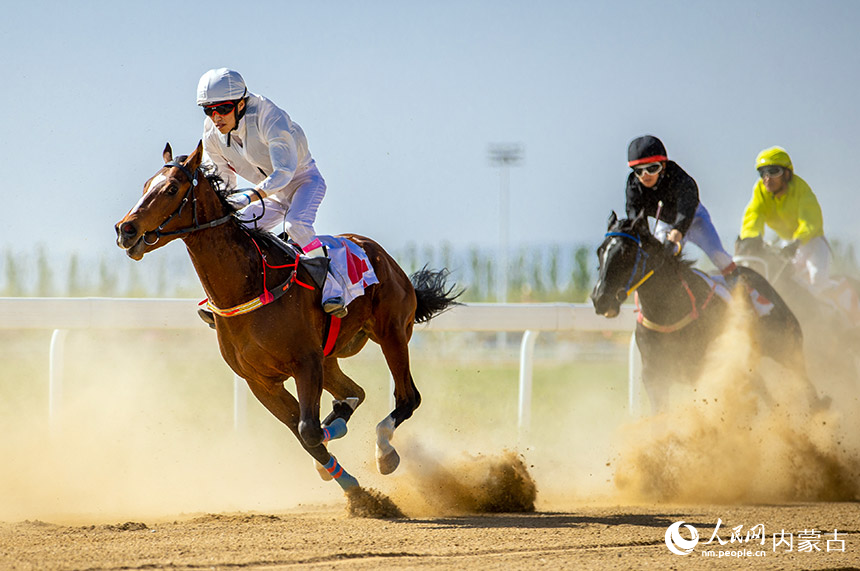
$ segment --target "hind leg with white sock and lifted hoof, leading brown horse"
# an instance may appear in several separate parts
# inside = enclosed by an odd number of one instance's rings
[[[376,466],[380,474],[390,474],[400,464],[400,456],[391,445],[394,429],[421,404],[421,394],[409,370],[409,336],[412,324],[380,339],[382,354],[394,379],[394,410],[376,426]]]

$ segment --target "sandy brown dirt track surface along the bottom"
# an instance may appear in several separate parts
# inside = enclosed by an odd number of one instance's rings
[[[765,544],[696,546],[687,556],[665,544],[685,521],[708,541],[763,524]],[[772,535],[820,533],[821,551],[800,552]],[[844,541],[828,544],[833,530]],[[829,534],[829,535],[828,535]],[[716,547],[714,547],[716,546]],[[828,552],[827,548],[831,551]],[[717,558],[703,551],[764,550]],[[62,526],[0,524],[2,569],[848,569],[860,567],[860,509],[855,503],[790,506],[583,507],[564,512],[409,518],[348,517],[342,506],[277,514],[207,514],[176,521]]]

